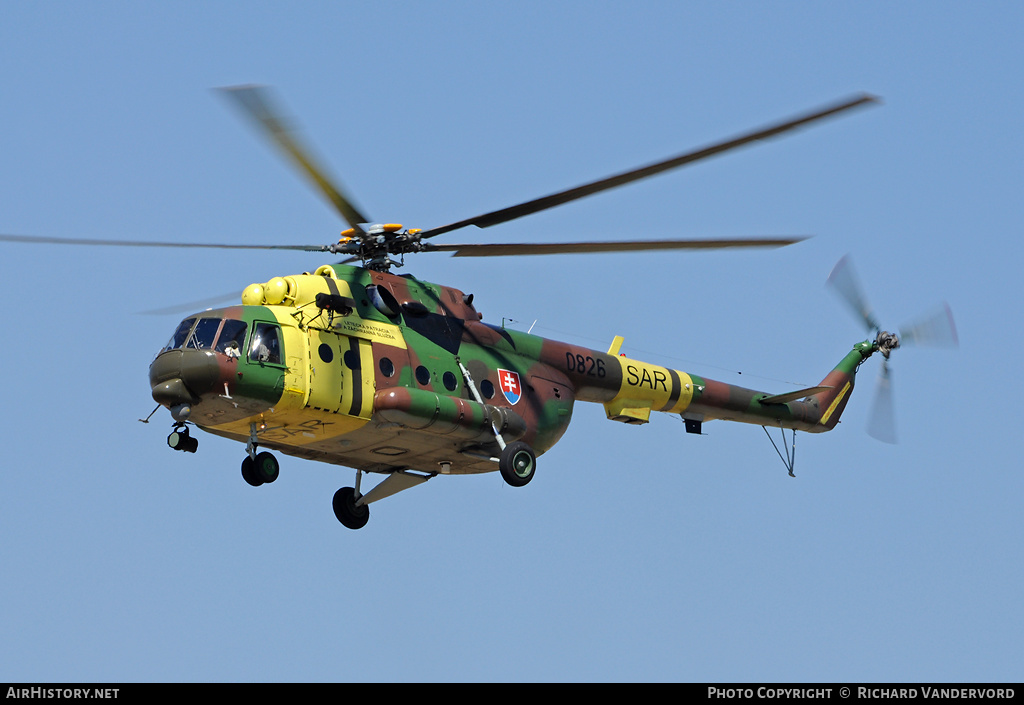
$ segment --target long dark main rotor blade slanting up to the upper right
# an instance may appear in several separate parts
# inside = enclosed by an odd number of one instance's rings
[[[878,98],[873,95],[861,94],[852,98],[848,98],[841,102],[822,108],[811,113],[801,115],[796,118],[791,118],[783,122],[771,125],[769,127],[764,127],[752,132],[746,132],[740,134],[731,139],[726,139],[721,142],[711,144],[709,147],[695,150],[693,152],[688,152],[686,154],[679,155],[677,157],[672,157],[662,162],[656,162],[654,164],[649,164],[638,169],[632,169],[630,171],[624,171],[623,173],[615,174],[613,176],[608,176],[607,178],[602,178],[597,181],[592,181],[590,183],[585,183],[574,189],[569,189],[567,191],[558,192],[556,194],[551,194],[550,196],[545,196],[543,198],[535,199],[532,201],[526,201],[524,203],[517,204],[515,206],[510,206],[508,208],[503,208],[501,210],[492,211],[489,213],[484,213],[483,215],[477,215],[473,218],[468,218],[466,220],[459,220],[458,222],[453,222],[447,225],[441,225],[440,227],[433,227],[426,230],[420,234],[421,238],[433,238],[435,236],[441,235],[443,233],[451,233],[452,231],[459,230],[460,227],[466,227],[467,225],[476,225],[477,227],[489,227],[490,225],[497,225],[501,222],[507,222],[509,220],[514,220],[515,218],[520,218],[524,215],[529,215],[531,213],[537,213],[542,210],[547,210],[548,208],[554,208],[555,206],[560,206],[564,203],[570,201],[575,201],[577,199],[582,199],[586,196],[591,196],[593,194],[598,194],[602,191],[607,191],[608,189],[614,189],[615,186],[625,185],[633,181],[640,180],[642,178],[647,178],[648,176],[653,176],[659,174],[663,171],[668,171],[670,169],[676,169],[678,167],[684,166],[686,164],[691,164],[693,162],[699,161],[701,159],[707,159],[723,152],[742,147],[750,142],[757,141],[759,139],[768,139],[769,137],[774,137],[776,135],[782,134],[783,132],[788,132],[798,127],[808,125],[817,120],[827,118],[834,115],[838,115],[844,111],[857,108],[859,106],[864,106],[872,102],[877,102]]]

